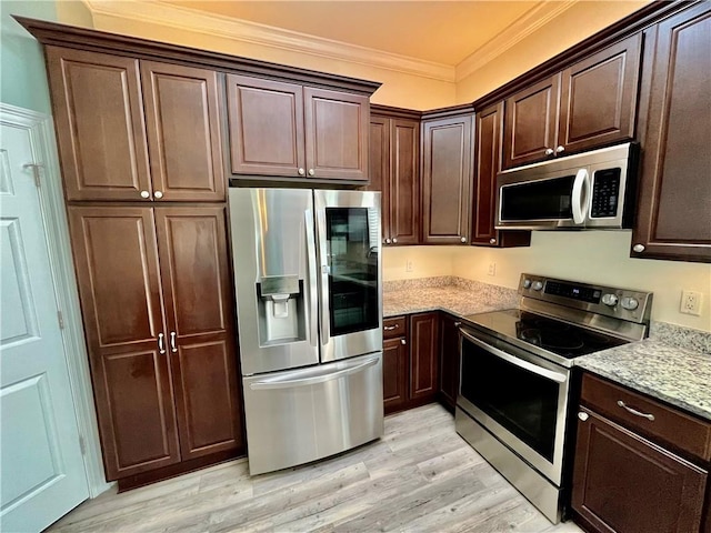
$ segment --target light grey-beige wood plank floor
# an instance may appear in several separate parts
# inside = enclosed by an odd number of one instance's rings
[[[232,461],[84,502],[51,532],[581,532],[551,525],[454,431],[438,404],[385,419],[384,436],[250,477]]]

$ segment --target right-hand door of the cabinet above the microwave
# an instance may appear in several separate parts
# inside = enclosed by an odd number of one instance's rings
[[[565,153],[634,137],[641,50],[637,33],[563,71],[558,143]]]

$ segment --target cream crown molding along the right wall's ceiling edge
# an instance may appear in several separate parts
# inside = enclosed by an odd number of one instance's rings
[[[542,1],[538,6],[534,6],[504,31],[457,64],[455,81],[463,80],[484,64],[493,61],[535,30],[572,8],[578,3],[578,1],[579,0],[562,0],[555,2]]]

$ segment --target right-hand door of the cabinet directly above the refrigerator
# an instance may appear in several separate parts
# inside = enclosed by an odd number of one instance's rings
[[[368,180],[368,97],[303,89],[307,175]]]

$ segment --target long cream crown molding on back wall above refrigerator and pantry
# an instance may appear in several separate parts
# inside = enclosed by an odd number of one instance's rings
[[[279,50],[307,53],[319,58],[348,61],[449,83],[454,82],[453,66],[423,61],[367,47],[348,44],[297,31],[232,19],[181,8],[160,1],[84,0],[94,20],[97,16],[152,22],[181,31],[218,36],[236,42],[259,44]]]

